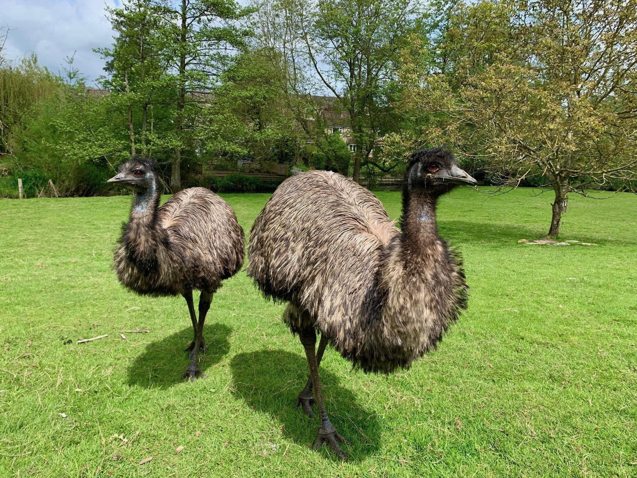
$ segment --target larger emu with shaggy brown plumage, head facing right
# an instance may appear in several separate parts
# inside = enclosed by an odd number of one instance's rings
[[[316,402],[321,416],[313,448],[327,442],[347,460],[318,378],[327,342],[355,367],[389,373],[436,347],[466,308],[461,257],[436,231],[436,201],[457,184],[476,181],[443,148],[421,150],[404,176],[402,232],[376,196],[327,171],[285,180],[257,217],[248,275],[269,298],[289,301],[283,320],[310,368],[296,407],[313,416]]]

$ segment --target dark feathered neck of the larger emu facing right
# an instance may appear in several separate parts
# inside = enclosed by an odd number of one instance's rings
[[[437,200],[425,189],[403,194],[403,245],[410,261],[438,252],[435,247],[440,242],[436,229]]]

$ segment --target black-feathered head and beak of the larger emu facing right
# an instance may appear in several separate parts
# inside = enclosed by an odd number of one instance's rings
[[[453,154],[444,147],[422,149],[412,154],[405,173],[406,192],[422,189],[440,196],[459,184],[478,182],[459,168]]]

